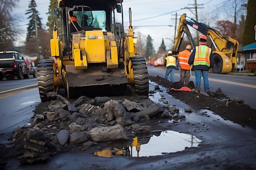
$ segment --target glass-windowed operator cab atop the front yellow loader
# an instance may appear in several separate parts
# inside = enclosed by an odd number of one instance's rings
[[[77,3],[75,2],[69,5],[67,3],[69,0],[66,0],[65,7],[61,7],[60,3],[60,14],[62,16],[62,35],[60,39],[64,45],[64,53],[71,51],[72,35],[79,33],[79,31],[101,30],[104,35],[106,35],[107,32],[112,32],[121,44],[123,20],[121,14],[119,14],[118,20],[115,14],[122,12],[121,5],[117,5],[116,0],[98,1],[99,0],[77,1]],[[70,13],[76,17],[77,24],[70,22]],[[74,26],[76,27],[75,31],[74,29],[72,31],[71,27]]]

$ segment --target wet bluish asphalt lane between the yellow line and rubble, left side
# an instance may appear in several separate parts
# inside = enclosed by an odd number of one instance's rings
[[[0,98],[0,143],[6,143],[16,128],[31,123],[40,102],[38,88]]]

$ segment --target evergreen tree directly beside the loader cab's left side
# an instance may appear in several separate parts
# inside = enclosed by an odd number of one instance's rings
[[[51,35],[50,38],[52,38],[52,30],[53,30],[53,9],[58,7],[58,1],[57,0],[51,0],[48,8],[48,22],[46,23],[47,26],[49,26],[49,35]],[[60,18],[55,18],[56,27],[58,30],[61,30],[61,21]]]

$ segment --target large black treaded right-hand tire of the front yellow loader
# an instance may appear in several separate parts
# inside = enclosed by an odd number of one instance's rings
[[[134,75],[134,92],[137,95],[148,95],[148,69],[144,57],[130,57]]]

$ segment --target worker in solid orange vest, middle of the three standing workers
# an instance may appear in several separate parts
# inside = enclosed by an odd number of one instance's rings
[[[190,66],[188,64],[190,54],[191,46],[187,45],[186,49],[184,51],[180,51],[178,55],[178,60],[180,62],[180,82],[184,83],[185,80],[185,86],[188,86],[190,78]]]

